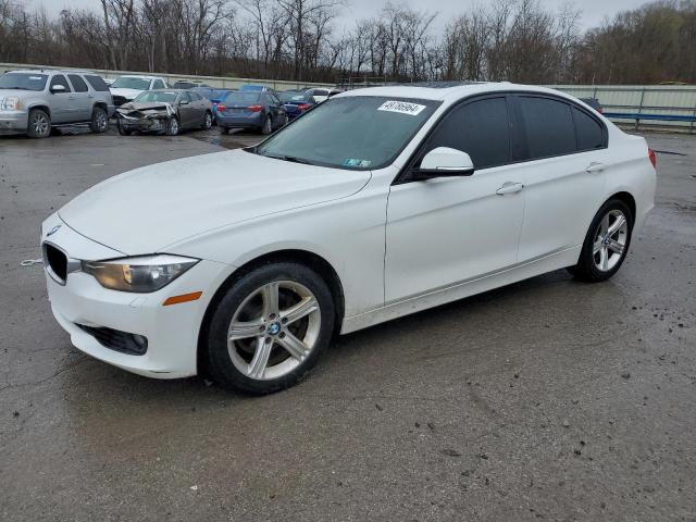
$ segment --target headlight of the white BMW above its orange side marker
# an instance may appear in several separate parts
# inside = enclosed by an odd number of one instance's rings
[[[148,293],[165,287],[198,261],[161,253],[111,261],[83,261],[82,271],[94,275],[104,288]]]

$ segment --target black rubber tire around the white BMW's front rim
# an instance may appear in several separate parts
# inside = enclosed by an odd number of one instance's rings
[[[232,360],[227,346],[229,324],[237,310],[243,308],[245,302],[249,302],[249,296],[253,296],[259,288],[269,283],[281,281],[299,283],[313,294],[319,303],[320,331],[311,351],[289,373],[275,378],[252,378],[243,373]],[[212,313],[208,328],[204,330],[207,334],[202,337],[201,348],[204,350],[202,360],[207,373],[223,387],[250,395],[265,395],[286,389],[304,377],[331,343],[335,322],[331,291],[315,272],[301,264],[281,262],[260,266],[227,284],[219,295],[220,298],[211,304],[214,308],[211,309]],[[258,345],[256,346],[258,349]],[[279,356],[281,360],[288,358],[288,353],[284,352],[278,344],[274,343],[272,346],[273,350],[279,350],[273,352],[274,357]]]

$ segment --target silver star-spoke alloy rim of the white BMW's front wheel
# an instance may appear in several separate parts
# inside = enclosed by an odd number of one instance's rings
[[[277,281],[249,295],[227,332],[237,370],[256,380],[291,372],[311,352],[321,330],[319,301],[303,285]]]

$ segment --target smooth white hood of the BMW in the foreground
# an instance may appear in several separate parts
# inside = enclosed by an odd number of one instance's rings
[[[167,161],[95,185],[59,211],[78,233],[128,256],[253,217],[345,198],[369,171],[231,150]]]

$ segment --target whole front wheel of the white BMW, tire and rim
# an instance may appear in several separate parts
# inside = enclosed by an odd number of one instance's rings
[[[285,389],[316,363],[334,320],[331,291],[316,273],[297,263],[263,265],[217,301],[204,339],[208,373],[247,394]]]

